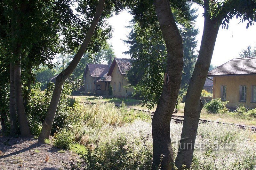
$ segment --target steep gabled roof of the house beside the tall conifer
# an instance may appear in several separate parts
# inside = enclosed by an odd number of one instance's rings
[[[109,71],[108,71],[108,76],[112,75],[112,72],[115,68],[115,65],[117,64],[118,69],[120,70],[120,74],[126,75],[127,72],[131,69],[132,67],[132,62],[131,59],[129,58],[114,58]]]

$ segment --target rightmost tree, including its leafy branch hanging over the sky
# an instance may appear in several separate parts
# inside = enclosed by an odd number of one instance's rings
[[[231,18],[240,17],[242,21],[248,21],[247,28],[255,21],[255,1],[232,0],[212,2],[204,0],[204,31],[202,42],[193,71],[185,100],[184,122],[180,137],[180,146],[175,166],[190,167],[196,140],[197,127],[203,104],[200,100],[204,82],[210,68],[213,49],[222,24],[228,28]]]

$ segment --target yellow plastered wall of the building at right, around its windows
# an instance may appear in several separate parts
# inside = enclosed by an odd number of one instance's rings
[[[256,75],[216,76],[213,78],[213,98],[221,98],[221,86],[227,85],[227,107],[235,109],[244,105],[247,108],[256,108],[252,102],[252,85],[256,85]],[[240,85],[246,85],[246,102],[240,101]]]

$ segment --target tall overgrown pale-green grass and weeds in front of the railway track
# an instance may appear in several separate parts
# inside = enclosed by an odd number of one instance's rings
[[[113,103],[84,105],[82,110],[82,121],[72,128],[76,144],[71,149],[83,152],[82,165],[87,169],[151,169],[151,119],[138,116],[145,113],[115,108]],[[181,130],[181,123],[171,122],[174,158]],[[217,123],[200,124],[196,145],[200,147],[195,149],[192,169],[252,169],[256,165],[256,135],[249,131]]]

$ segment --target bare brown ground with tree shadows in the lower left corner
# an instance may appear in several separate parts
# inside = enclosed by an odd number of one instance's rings
[[[52,144],[37,145],[33,138],[0,136],[0,169],[62,169],[62,161],[77,159],[74,152],[58,152]]]

